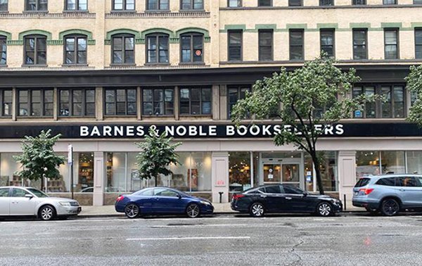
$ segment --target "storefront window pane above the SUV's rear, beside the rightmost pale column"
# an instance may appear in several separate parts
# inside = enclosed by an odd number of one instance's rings
[[[380,174],[379,151],[357,151],[356,152],[356,177]]]

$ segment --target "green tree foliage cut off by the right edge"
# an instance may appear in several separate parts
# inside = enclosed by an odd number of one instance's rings
[[[422,127],[422,65],[412,65],[404,80],[407,82],[407,89],[416,96],[416,101],[410,106],[407,120]]]

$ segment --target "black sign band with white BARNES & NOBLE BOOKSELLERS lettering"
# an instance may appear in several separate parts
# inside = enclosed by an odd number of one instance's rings
[[[142,139],[153,127],[158,134],[177,139],[241,139],[271,138],[282,130],[293,127],[273,123],[240,125],[146,125],[146,124],[84,124],[84,125],[4,125],[0,126],[1,139],[21,139],[36,136],[41,130],[51,129],[52,134],[62,134],[62,139]],[[316,127],[322,127],[316,125]],[[323,137],[422,137],[416,124],[396,123],[339,123],[326,127]]]

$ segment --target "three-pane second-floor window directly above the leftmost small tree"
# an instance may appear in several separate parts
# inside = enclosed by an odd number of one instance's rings
[[[18,90],[19,116],[53,116],[53,89]]]

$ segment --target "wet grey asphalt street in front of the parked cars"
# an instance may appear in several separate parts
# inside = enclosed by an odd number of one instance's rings
[[[422,265],[422,216],[6,220],[0,265]]]

